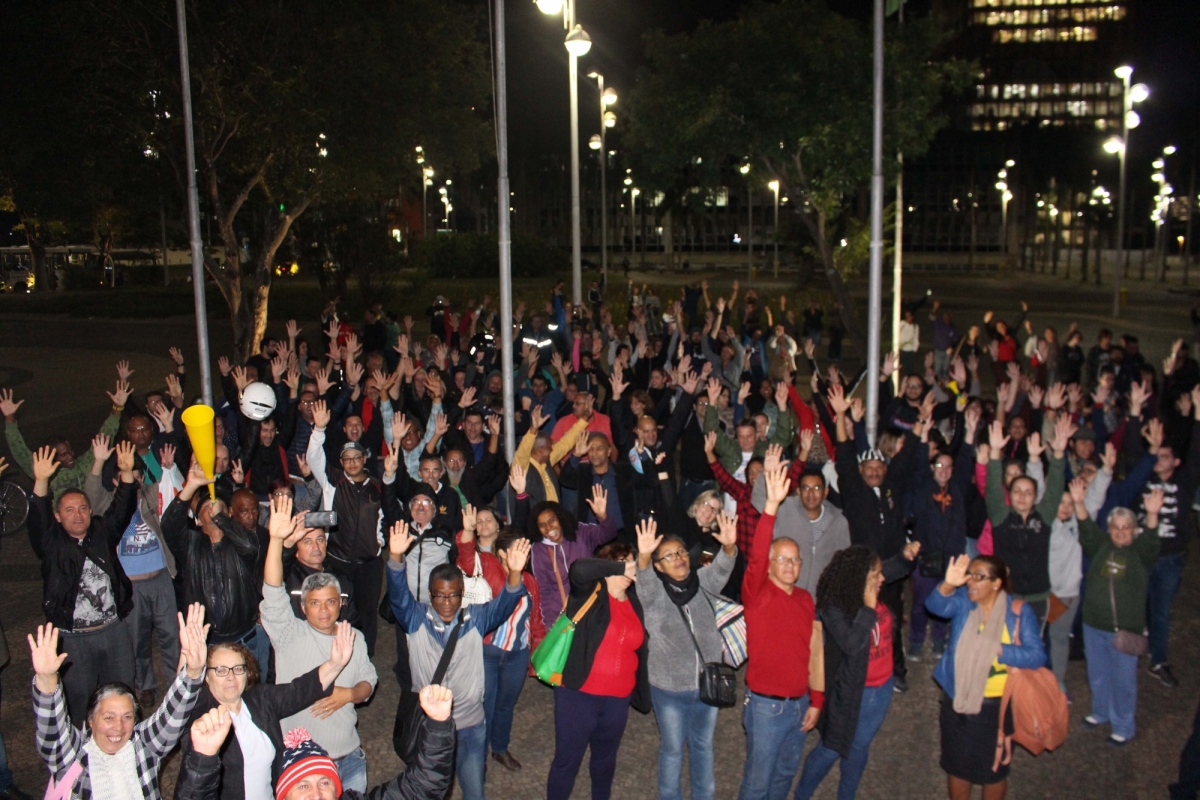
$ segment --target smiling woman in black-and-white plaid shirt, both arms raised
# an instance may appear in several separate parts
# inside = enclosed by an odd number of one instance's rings
[[[59,652],[59,631],[37,627],[29,639],[34,661],[34,709],[37,752],[55,783],[70,783],[72,800],[161,800],[158,768],[186,729],[204,678],[204,607],[192,603],[187,621],[179,614],[180,669],[162,705],[149,720],[137,721],[138,704],[125,684],[104,684],[88,702],[86,728],[67,720],[59,680],[66,652]]]

